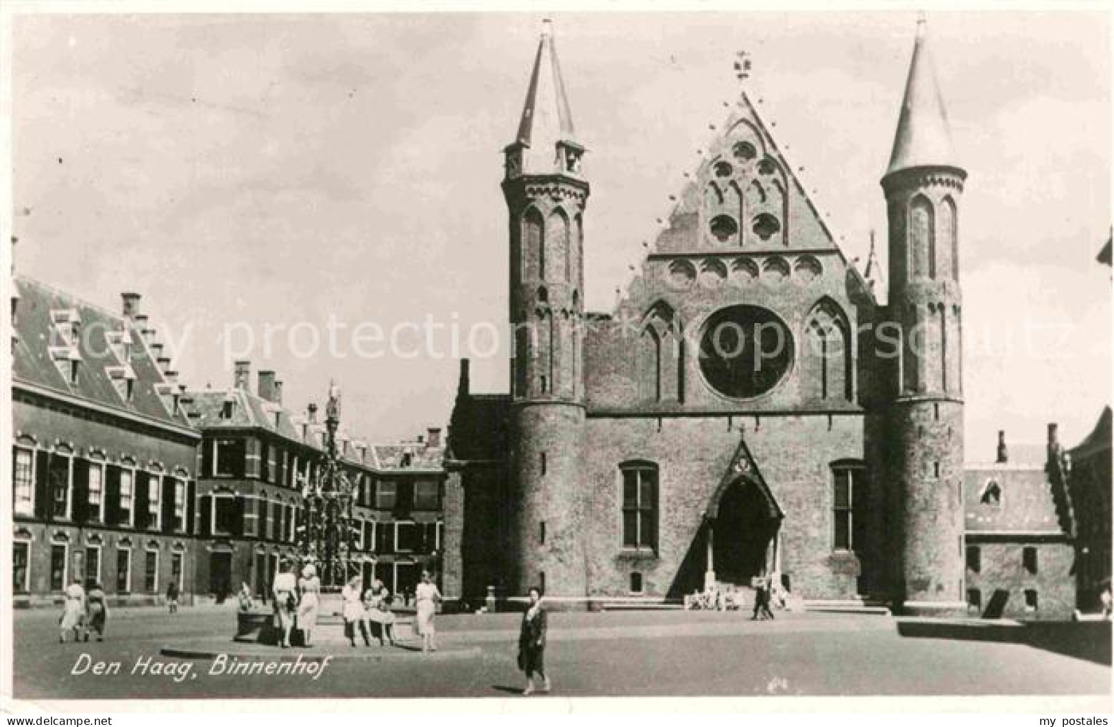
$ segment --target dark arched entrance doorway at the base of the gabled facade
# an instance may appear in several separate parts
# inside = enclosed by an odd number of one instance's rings
[[[705,587],[750,585],[755,575],[778,571],[782,517],[761,477],[743,475],[721,485],[705,513]]]

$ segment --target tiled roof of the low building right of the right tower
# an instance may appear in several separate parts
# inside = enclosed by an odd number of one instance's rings
[[[997,483],[999,497],[987,493]],[[986,465],[964,473],[967,532],[1062,533],[1054,485],[1043,467]]]

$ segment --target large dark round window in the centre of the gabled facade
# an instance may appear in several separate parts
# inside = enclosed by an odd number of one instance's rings
[[[724,396],[749,399],[765,394],[792,363],[793,336],[765,308],[724,308],[704,326],[700,370],[709,385]]]

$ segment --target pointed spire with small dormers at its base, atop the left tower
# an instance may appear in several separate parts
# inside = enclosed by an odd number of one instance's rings
[[[518,134],[508,151],[515,146],[524,147],[524,174],[551,174],[555,171],[568,171],[557,165],[558,144],[583,151],[576,142],[573,112],[565,95],[565,80],[554,45],[553,22],[546,19],[541,21],[541,37],[538,40],[538,52],[530,72],[530,86],[526,91]]]

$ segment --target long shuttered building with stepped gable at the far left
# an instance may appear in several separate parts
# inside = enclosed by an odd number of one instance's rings
[[[13,290],[13,604],[59,603],[75,578],[113,605],[160,602],[172,580],[190,602],[201,435],[140,297],[113,312]]]

